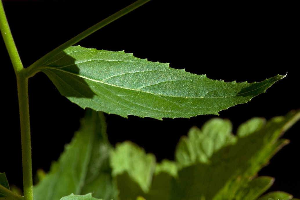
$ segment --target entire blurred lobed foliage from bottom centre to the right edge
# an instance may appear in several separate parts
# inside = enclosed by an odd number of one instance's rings
[[[140,195],[147,200],[256,200],[274,181],[272,177],[256,177],[257,172],[288,143],[279,138],[299,118],[300,110],[268,122],[253,118],[238,127],[236,136],[231,134],[229,120],[209,120],[202,129],[193,127],[187,137],[181,138],[176,162],[164,160],[155,171],[153,163],[146,162],[145,151],[126,142],[122,145],[134,150],[117,148],[112,155],[114,162],[142,165],[137,169],[139,165],[125,164],[128,167],[122,173],[115,173],[119,198],[135,200]],[[112,165],[113,170],[116,167]],[[142,189],[145,186],[130,175],[132,168],[139,180],[143,176],[149,180],[153,174],[151,185],[147,183],[149,189]]]

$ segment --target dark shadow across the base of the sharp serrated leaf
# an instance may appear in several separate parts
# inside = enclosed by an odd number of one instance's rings
[[[54,83],[61,95],[66,97],[93,98],[96,95],[86,83],[85,79],[78,76],[80,69],[75,64],[73,57],[65,52],[59,53],[49,60],[43,71]]]

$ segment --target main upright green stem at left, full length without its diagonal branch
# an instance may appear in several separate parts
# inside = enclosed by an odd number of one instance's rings
[[[21,126],[24,199],[33,200],[31,140],[30,140],[30,124],[29,124],[29,101],[28,101],[28,77],[26,77],[26,75],[24,74],[25,68],[23,68],[18,50],[16,48],[16,44],[13,41],[13,36],[10,32],[10,28],[4,13],[3,4],[1,0],[0,0],[0,28],[17,79],[20,126]]]

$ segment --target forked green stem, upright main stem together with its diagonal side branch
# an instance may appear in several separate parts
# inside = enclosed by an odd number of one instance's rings
[[[16,44],[13,40],[7,18],[4,13],[3,4],[0,0],[0,30],[7,48],[10,60],[13,64],[13,69],[16,74],[18,98],[19,98],[19,112],[20,112],[20,125],[21,125],[21,143],[22,143],[22,167],[23,167],[23,186],[24,186],[24,200],[33,200],[33,184],[32,184],[32,159],[31,159],[31,139],[30,139],[30,123],[29,123],[29,100],[28,100],[28,78],[34,76],[38,72],[37,67],[41,66],[51,57],[57,55],[67,47],[76,44],[83,38],[91,35],[95,31],[101,29],[107,24],[115,21],[123,15],[133,11],[141,5],[149,2],[150,0],[138,0],[119,12],[107,17],[101,22],[95,24],[51,52],[47,53],[41,59],[33,63],[29,68],[23,68]],[[17,198],[15,198],[17,199]]]

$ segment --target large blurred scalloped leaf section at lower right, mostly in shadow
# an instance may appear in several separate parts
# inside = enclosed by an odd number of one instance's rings
[[[189,166],[186,166],[185,162],[182,162],[181,159],[178,160],[179,164],[184,167],[178,172],[179,181],[174,188],[172,199],[193,199],[195,196],[205,197],[208,200],[223,199],[225,194],[228,195],[232,192],[228,189],[230,183],[238,183],[243,180],[241,187],[244,187],[244,184],[250,184],[249,181],[253,176],[268,163],[280,148],[288,143],[287,140],[279,139],[279,137],[299,118],[300,110],[291,112],[285,117],[274,117],[267,123],[262,118],[254,118],[238,128],[236,139],[235,136],[228,135],[226,120],[223,120],[220,125],[220,119],[213,119],[208,121],[201,130],[192,129],[188,138],[179,143],[176,151],[176,158],[178,158],[178,154],[187,155],[186,157],[190,158],[191,162]],[[216,127],[219,131],[216,130]],[[216,137],[215,132],[220,132],[223,137]],[[194,136],[196,134],[198,136]],[[210,146],[207,146],[206,142],[203,143],[207,138],[211,138]],[[182,148],[181,143],[187,144],[186,147],[189,148]],[[220,143],[223,144],[222,147],[215,150],[215,144]],[[210,154],[205,152],[211,152],[211,149],[214,153],[209,156]],[[193,155],[195,159],[189,155]],[[207,160],[203,161],[203,155]],[[245,183],[244,180],[248,180],[248,183]],[[265,189],[267,188],[268,184],[265,183]],[[237,198],[235,199],[237,200]]]

